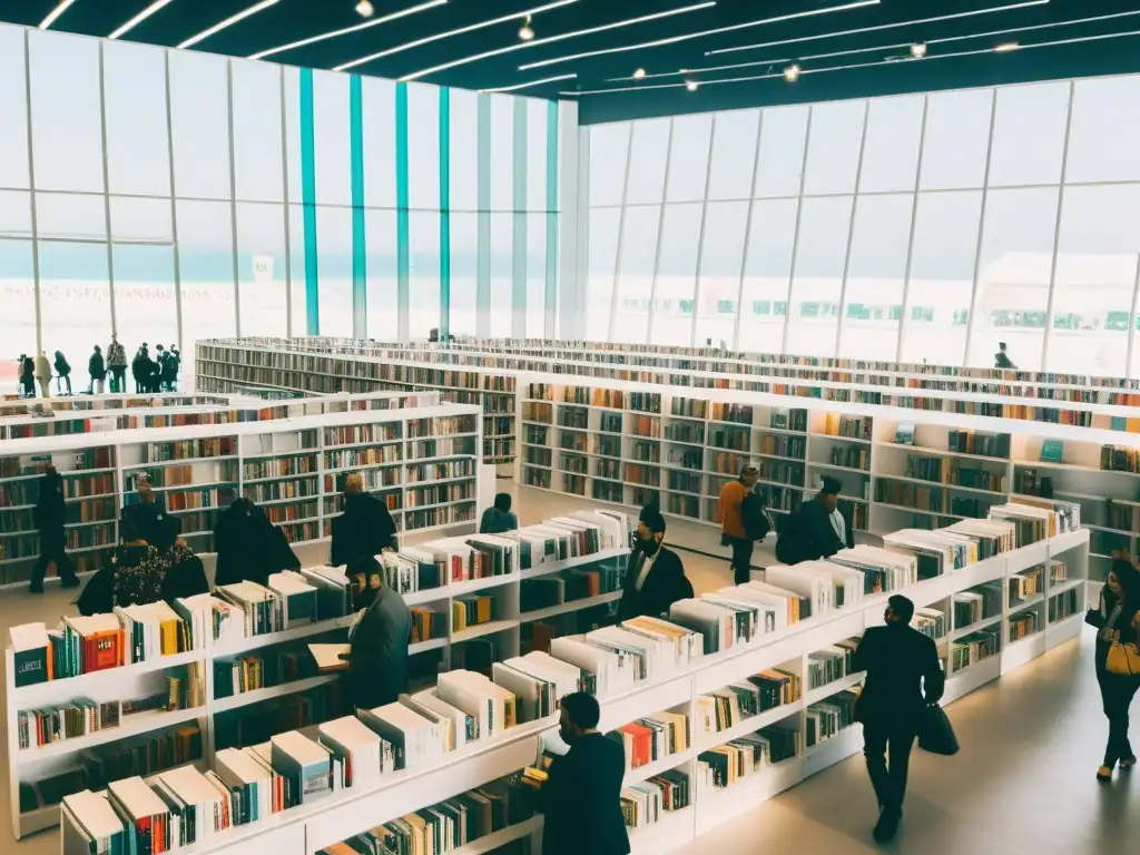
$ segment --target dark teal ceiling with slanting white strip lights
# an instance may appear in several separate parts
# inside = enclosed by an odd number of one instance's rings
[[[575,97],[583,123],[1140,72],[1140,0],[372,0],[370,18],[356,2],[19,0],[0,7],[0,19],[41,26],[62,8],[51,30],[109,36],[150,11],[119,38],[176,47],[246,13],[193,49]],[[543,10],[523,43],[528,9]],[[477,26],[487,22],[497,23]],[[909,58],[914,42],[927,44],[926,58]],[[1018,47],[994,51],[1005,42]],[[603,52],[579,56],[594,51]],[[375,54],[384,56],[355,64]],[[795,83],[783,79],[791,63],[803,71]],[[646,78],[635,81],[638,67]],[[527,85],[562,75],[576,76]]]

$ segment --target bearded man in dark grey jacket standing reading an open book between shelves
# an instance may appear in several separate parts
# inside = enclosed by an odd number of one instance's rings
[[[412,613],[400,592],[383,584],[380,562],[368,556],[349,564],[352,608],[363,609],[349,634],[342,685],[349,709],[375,709],[408,691]]]

